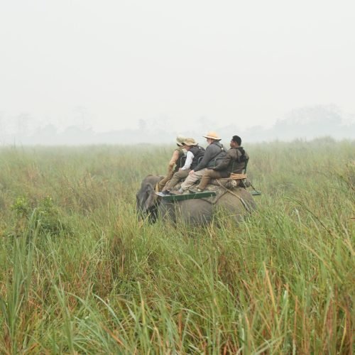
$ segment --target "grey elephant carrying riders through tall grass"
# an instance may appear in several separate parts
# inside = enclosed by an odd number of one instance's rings
[[[156,222],[158,217],[170,219],[173,222],[183,222],[190,225],[202,225],[212,222],[214,214],[222,207],[226,214],[236,222],[256,209],[253,196],[244,187],[225,189],[212,185],[212,190],[222,189],[217,202],[212,203],[212,197],[170,202],[155,194],[156,184],[162,176],[148,175],[143,179],[141,188],[136,195],[136,207],[141,216],[147,216],[150,222]],[[211,185],[208,186],[211,189]]]

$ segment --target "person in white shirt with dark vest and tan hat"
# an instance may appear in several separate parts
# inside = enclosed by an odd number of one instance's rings
[[[163,188],[163,195],[170,195],[170,190],[178,184],[179,181],[184,180],[190,173],[191,169],[194,169],[200,158],[204,155],[204,148],[200,147],[194,138],[186,138],[182,143],[183,147],[187,151],[185,165],[180,168],[173,178]]]

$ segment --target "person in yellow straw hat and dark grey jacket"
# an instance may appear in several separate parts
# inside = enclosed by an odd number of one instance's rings
[[[226,155],[222,143],[222,138],[214,131],[209,131],[206,136],[208,146],[200,163],[190,170],[189,176],[182,182],[179,193],[185,192],[190,186],[194,185],[197,180],[202,178],[202,175],[207,168],[212,168],[217,165],[217,159],[223,158]]]

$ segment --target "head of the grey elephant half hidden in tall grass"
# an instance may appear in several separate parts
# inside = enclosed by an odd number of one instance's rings
[[[161,176],[146,176],[136,195],[136,208],[138,214],[141,217],[148,217],[151,222],[155,222],[158,217],[159,202],[156,199],[155,186],[161,179],[163,179]]]

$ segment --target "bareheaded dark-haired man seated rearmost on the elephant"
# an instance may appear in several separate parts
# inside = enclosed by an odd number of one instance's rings
[[[226,156],[214,168],[207,169],[202,175],[200,185],[192,192],[202,192],[211,179],[229,178],[231,173],[241,174],[249,160],[249,155],[241,147],[241,138],[233,136],[230,143],[231,148],[226,152]]]

